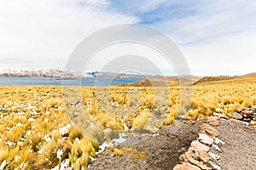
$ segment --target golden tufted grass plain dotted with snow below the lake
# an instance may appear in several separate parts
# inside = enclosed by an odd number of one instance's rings
[[[213,112],[232,116],[238,106],[256,105],[255,77],[198,83],[193,87],[192,105],[180,103],[179,87],[170,87],[171,93],[150,87],[98,88],[97,94],[95,88],[81,89],[84,105],[76,111],[87,111],[102,127],[120,131],[154,131],[154,127],[175,123],[176,115],[187,119],[205,118]],[[99,144],[85,139],[71,125],[61,90],[60,86],[0,87],[0,167],[50,169],[67,162],[81,169],[96,156]],[[154,99],[155,93],[165,95]],[[77,104],[73,101],[70,106]],[[114,138],[114,133],[102,138]],[[122,155],[120,150],[113,151]]]

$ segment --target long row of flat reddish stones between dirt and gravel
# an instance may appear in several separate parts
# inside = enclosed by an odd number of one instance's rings
[[[213,154],[209,150],[212,148],[214,150],[222,151],[219,149],[218,144],[224,144],[223,141],[217,139],[220,135],[218,130],[212,126],[219,125],[219,116],[210,116],[207,119],[207,123],[201,125],[200,133],[198,133],[199,138],[193,141],[189,147],[189,150],[179,156],[179,161],[181,164],[177,164],[174,170],[211,170],[218,169],[218,165],[214,164],[214,160],[218,160],[220,157]]]

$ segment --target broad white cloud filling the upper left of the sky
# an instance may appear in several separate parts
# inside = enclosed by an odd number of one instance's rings
[[[63,67],[73,48],[90,33],[137,22],[136,17],[110,12],[107,1],[95,2],[1,0],[1,64]]]

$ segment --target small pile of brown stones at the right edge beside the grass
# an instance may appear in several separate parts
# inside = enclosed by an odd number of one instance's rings
[[[233,119],[256,125],[256,105],[253,107],[238,107],[232,115]]]

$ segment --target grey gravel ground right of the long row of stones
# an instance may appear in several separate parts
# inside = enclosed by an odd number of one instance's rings
[[[223,170],[256,169],[256,126],[247,126],[235,120],[222,120],[219,127],[222,152],[212,150],[221,158],[215,161]]]

